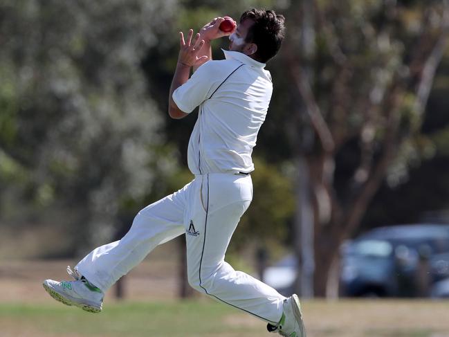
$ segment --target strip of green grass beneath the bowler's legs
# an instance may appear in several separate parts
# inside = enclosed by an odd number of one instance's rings
[[[241,319],[234,325],[235,317]],[[263,322],[255,326],[246,318],[214,302],[125,302],[108,304],[97,314],[59,303],[0,304],[0,336],[28,336],[27,331],[33,336],[242,336],[245,331],[254,336],[264,331]]]

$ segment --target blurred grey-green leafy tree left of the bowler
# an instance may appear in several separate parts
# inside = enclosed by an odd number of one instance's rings
[[[176,1],[1,1],[3,220],[68,226],[68,243],[84,251],[111,239],[129,199],[143,199],[169,174],[172,148],[140,62],[175,8]],[[24,219],[30,202],[39,212]]]

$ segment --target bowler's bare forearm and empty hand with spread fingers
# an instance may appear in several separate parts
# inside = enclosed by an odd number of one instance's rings
[[[203,55],[198,57],[201,47],[204,45],[204,40],[199,39],[200,35],[196,34],[194,40],[192,41],[193,30],[189,30],[187,35],[187,42],[184,41],[184,35],[182,32],[180,34],[180,45],[178,55],[178,64],[176,64],[176,71],[173,75],[172,85],[170,86],[169,100],[168,100],[168,114],[174,119],[184,118],[188,115],[181,109],[178,108],[173,100],[173,93],[179,86],[183,85],[187,80],[189,80],[190,68],[196,64],[203,64],[207,60],[208,56]]]

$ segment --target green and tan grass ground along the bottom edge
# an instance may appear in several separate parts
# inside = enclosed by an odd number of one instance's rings
[[[305,301],[309,337],[449,337],[449,302]],[[210,300],[106,303],[93,314],[57,302],[0,304],[1,337],[275,336]]]

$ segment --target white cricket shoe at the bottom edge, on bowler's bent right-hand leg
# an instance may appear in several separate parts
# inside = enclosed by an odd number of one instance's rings
[[[284,312],[277,326],[268,324],[267,329],[270,332],[277,332],[286,337],[306,337],[306,329],[302,321],[302,312],[300,299],[293,294],[284,300],[282,304]]]

